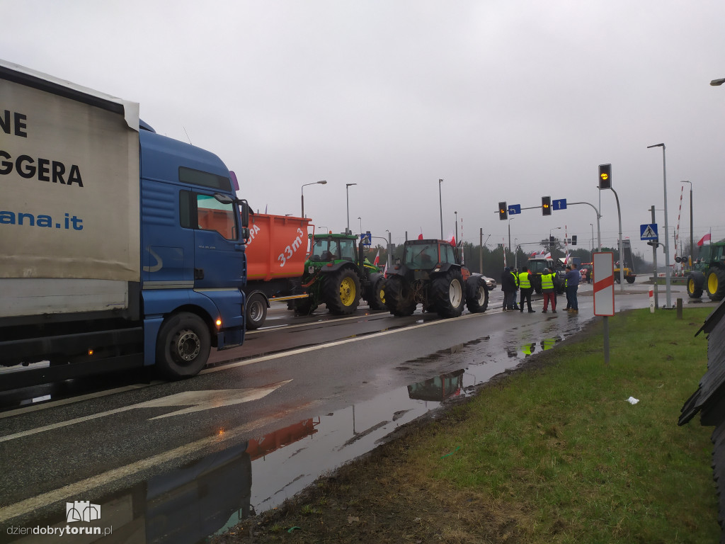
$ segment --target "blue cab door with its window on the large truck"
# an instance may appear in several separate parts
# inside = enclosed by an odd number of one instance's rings
[[[241,289],[247,271],[236,207],[218,202],[211,195],[192,195],[198,219],[194,231],[194,289]]]

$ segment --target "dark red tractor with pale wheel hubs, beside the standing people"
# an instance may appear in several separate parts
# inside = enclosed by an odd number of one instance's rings
[[[486,311],[489,290],[484,276],[471,273],[445,240],[407,240],[402,262],[388,269],[385,305],[394,316],[410,316],[418,304],[444,318]]]

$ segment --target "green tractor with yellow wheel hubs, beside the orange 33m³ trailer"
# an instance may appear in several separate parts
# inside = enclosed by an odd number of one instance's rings
[[[363,257],[363,244],[352,234],[315,234],[305,263],[302,287],[307,298],[295,301],[299,315],[312,313],[320,304],[336,316],[355,313],[360,298],[371,310],[385,310],[383,275]]]

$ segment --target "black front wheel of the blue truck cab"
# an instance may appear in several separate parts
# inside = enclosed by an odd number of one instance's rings
[[[156,364],[168,379],[189,378],[199,374],[209,358],[211,335],[199,316],[175,313],[159,329]]]

